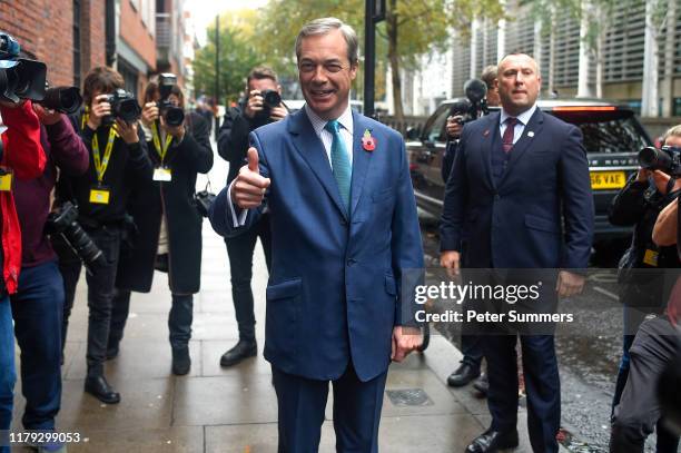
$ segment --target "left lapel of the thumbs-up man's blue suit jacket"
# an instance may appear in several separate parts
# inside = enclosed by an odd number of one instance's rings
[[[288,131],[293,136],[292,138],[296,150],[307,161],[307,165],[309,165],[309,168],[317,179],[319,179],[319,183],[322,183],[322,186],[336,205],[336,208],[340,211],[343,217],[348,220],[348,214],[340,201],[338,184],[332,173],[324,144],[322,144],[322,140],[315,134],[315,129],[312,122],[309,122],[309,118],[307,118],[304,108],[292,116],[288,122]]]

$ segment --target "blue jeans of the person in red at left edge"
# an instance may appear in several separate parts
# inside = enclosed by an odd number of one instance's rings
[[[9,297],[6,295],[0,296],[0,431],[9,430],[12,423],[16,382],[12,307]],[[0,452],[9,451],[9,446],[0,446]]]

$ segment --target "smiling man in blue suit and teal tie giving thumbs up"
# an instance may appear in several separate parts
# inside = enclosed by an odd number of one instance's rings
[[[377,452],[391,360],[421,343],[414,280],[423,268],[402,137],[349,109],[357,37],[317,19],[296,39],[306,106],[250,134],[248,165],[210,221],[234,236],[272,221],[265,358],[279,413],[279,452],[316,452],[328,383],[338,452]]]

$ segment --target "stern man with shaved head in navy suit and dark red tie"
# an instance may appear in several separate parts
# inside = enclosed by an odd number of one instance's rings
[[[543,306],[555,306],[557,297],[582,289],[580,269],[588,267],[591,250],[593,198],[582,134],[536,107],[541,77],[531,57],[506,56],[497,85],[501,112],[462,131],[445,191],[441,264],[451,274],[458,273],[460,262],[467,268],[560,269],[555,285],[541,292]],[[483,337],[492,425],[466,452],[517,445],[515,343],[515,333]],[[553,336],[521,335],[521,344],[532,449],[557,452],[561,405]]]

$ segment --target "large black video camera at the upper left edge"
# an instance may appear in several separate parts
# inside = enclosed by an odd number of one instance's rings
[[[47,66],[41,61],[19,58],[19,42],[0,31],[0,100],[42,100]]]

